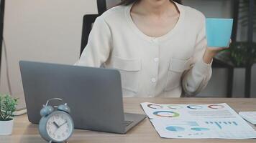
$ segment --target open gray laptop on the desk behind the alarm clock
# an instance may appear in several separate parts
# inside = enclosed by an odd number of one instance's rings
[[[47,99],[63,99],[76,129],[124,134],[145,119],[124,113],[119,71],[85,66],[19,62],[29,122],[38,124]]]

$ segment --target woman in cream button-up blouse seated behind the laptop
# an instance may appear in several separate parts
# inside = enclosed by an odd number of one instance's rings
[[[223,48],[206,47],[205,17],[170,0],[123,0],[96,19],[79,66],[118,69],[124,97],[198,94]]]

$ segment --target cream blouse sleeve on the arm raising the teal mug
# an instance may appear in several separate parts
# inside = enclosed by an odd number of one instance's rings
[[[198,32],[196,46],[194,49],[191,69],[183,74],[182,87],[185,96],[191,97],[201,92],[209,80],[211,79],[211,64],[206,64],[203,61],[204,51],[206,51],[206,22],[205,17],[201,22],[201,30]]]

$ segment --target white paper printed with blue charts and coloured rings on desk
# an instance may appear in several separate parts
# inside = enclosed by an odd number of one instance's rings
[[[256,131],[228,104],[142,103],[160,137],[252,139]]]

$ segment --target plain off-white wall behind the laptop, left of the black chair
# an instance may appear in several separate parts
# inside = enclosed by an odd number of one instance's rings
[[[96,0],[6,0],[4,39],[13,95],[23,100],[19,60],[73,64],[79,56],[84,14],[96,14]],[[1,62],[1,92],[6,87]]]

